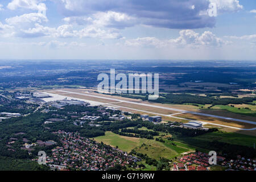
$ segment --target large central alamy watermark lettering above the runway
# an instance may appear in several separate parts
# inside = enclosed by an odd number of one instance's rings
[[[154,87],[153,87],[154,78]],[[159,74],[154,73],[129,73],[128,78],[124,73],[115,74],[115,69],[110,69],[110,78],[106,73],[98,75],[97,90],[100,93],[118,94],[149,94],[148,100],[156,100],[159,97]],[[117,83],[116,83],[117,81]]]

